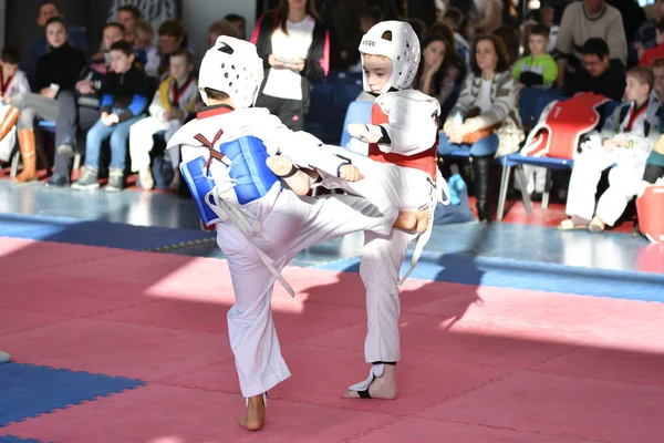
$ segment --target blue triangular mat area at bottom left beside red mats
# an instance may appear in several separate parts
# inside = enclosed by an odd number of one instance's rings
[[[144,384],[142,380],[66,369],[0,364],[0,426]]]

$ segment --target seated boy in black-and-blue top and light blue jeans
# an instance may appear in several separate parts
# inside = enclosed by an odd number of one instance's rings
[[[112,70],[102,81],[101,119],[87,132],[85,168],[82,177],[72,185],[74,189],[95,189],[102,142],[111,137],[111,165],[107,192],[124,187],[125,158],[129,127],[144,117],[149,85],[145,72],[134,65],[132,43],[118,41],[111,45]]]

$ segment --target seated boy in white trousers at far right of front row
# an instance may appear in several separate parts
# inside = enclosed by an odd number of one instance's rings
[[[651,94],[654,76],[650,69],[632,68],[626,78],[625,101],[606,119],[601,133],[589,136],[574,162],[566,208],[571,218],[561,222],[560,229],[601,233],[639,193],[646,161],[660,136],[661,102]],[[595,212],[598,183],[602,171],[611,165],[615,166],[609,173],[610,186]]]

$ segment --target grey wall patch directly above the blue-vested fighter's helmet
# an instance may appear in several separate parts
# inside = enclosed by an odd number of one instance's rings
[[[1,1],[1,0],[0,0]],[[200,55],[207,50],[207,29],[229,13],[237,13],[247,20],[247,39],[251,37],[256,23],[256,1],[250,0],[184,0],[183,23],[189,40],[196,44]]]

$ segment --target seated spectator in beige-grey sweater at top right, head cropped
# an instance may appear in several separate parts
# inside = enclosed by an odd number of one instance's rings
[[[569,89],[564,83],[581,70],[580,47],[593,38],[606,42],[610,59],[618,59],[623,65],[626,63],[627,41],[620,12],[604,0],[571,3],[564,10],[556,41],[559,89]],[[624,83],[620,86],[622,90]]]

